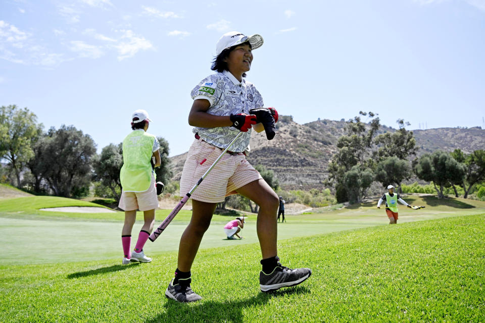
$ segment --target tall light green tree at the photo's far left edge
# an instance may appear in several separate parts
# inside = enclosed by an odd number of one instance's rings
[[[9,161],[9,167],[17,179],[17,187],[21,186],[22,169],[34,156],[32,140],[41,133],[42,127],[42,124],[37,124],[37,116],[26,107],[0,107],[0,159]]]

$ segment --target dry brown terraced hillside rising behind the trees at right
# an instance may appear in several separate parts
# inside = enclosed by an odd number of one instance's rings
[[[327,166],[338,137],[345,134],[345,121],[318,120],[300,125],[284,118],[287,122],[277,124],[277,134],[268,141],[264,132],[253,131],[251,153],[248,160],[252,165],[264,165],[275,172],[284,189],[322,188],[327,177]],[[380,133],[396,131],[382,126]],[[418,156],[437,149],[453,151],[460,148],[465,152],[485,149],[485,130],[478,127],[438,128],[414,130],[419,147]],[[180,179],[186,154],[171,157],[174,180]]]

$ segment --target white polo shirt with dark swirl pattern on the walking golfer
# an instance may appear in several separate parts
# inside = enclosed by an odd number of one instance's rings
[[[192,99],[209,100],[211,106],[207,113],[214,116],[229,116],[245,113],[250,109],[263,107],[263,98],[256,87],[243,78],[239,82],[229,71],[209,75],[190,93]],[[225,149],[239,133],[234,127],[200,128],[192,130],[198,133],[204,141],[216,147]],[[243,152],[249,146],[251,129],[237,138],[229,148],[230,151]]]

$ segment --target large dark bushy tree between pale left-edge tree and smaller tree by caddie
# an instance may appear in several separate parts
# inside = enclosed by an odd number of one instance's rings
[[[83,193],[91,179],[95,143],[74,126],[62,125],[49,129],[45,140],[43,161],[49,165],[44,178],[56,196],[75,196]]]

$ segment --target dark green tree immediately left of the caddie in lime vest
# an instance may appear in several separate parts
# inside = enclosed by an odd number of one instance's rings
[[[120,170],[123,166],[123,155],[121,153],[121,143],[118,145],[109,144],[104,147],[101,154],[95,155],[92,159],[92,168],[94,171],[92,179],[100,182],[101,185],[109,188],[111,194],[116,200],[120,200],[121,182]]]

